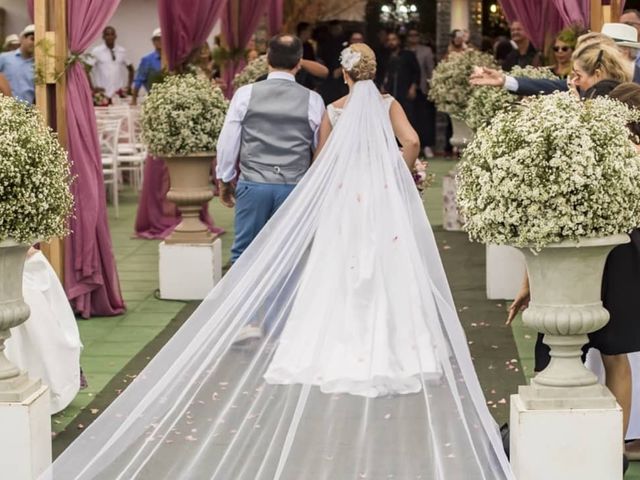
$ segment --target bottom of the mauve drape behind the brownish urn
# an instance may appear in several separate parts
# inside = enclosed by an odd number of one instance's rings
[[[138,201],[135,223],[137,237],[164,239],[180,223],[182,217],[175,204],[167,200],[168,191],[169,170],[167,166],[161,158],[149,155],[144,164],[144,181]],[[211,232],[222,235],[224,230],[213,225],[213,219],[209,215],[207,207],[204,205],[200,210],[200,220],[209,227]]]

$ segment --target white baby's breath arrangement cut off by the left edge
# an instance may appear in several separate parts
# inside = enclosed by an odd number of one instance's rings
[[[35,243],[69,233],[67,152],[38,111],[0,95],[0,241]]]

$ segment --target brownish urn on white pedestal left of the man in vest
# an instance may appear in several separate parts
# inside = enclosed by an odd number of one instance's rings
[[[211,243],[214,235],[200,220],[202,205],[213,198],[209,172],[214,154],[195,153],[185,156],[163,156],[169,169],[171,188],[167,200],[175,203],[182,213],[182,221],[169,235],[168,244]]]

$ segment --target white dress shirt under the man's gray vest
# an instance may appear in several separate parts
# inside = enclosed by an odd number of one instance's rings
[[[293,75],[286,72],[272,72],[267,77],[295,82]],[[236,91],[231,99],[229,111],[218,138],[216,176],[225,183],[236,177],[236,164],[242,144],[242,121],[249,108],[253,85],[245,85]],[[313,148],[318,145],[318,132],[324,115],[324,101],[316,92],[309,95],[309,125],[314,132]]]

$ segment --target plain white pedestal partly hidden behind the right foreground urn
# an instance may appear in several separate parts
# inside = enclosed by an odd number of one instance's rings
[[[487,298],[513,300],[526,270],[522,252],[506,245],[487,245],[486,251]]]

